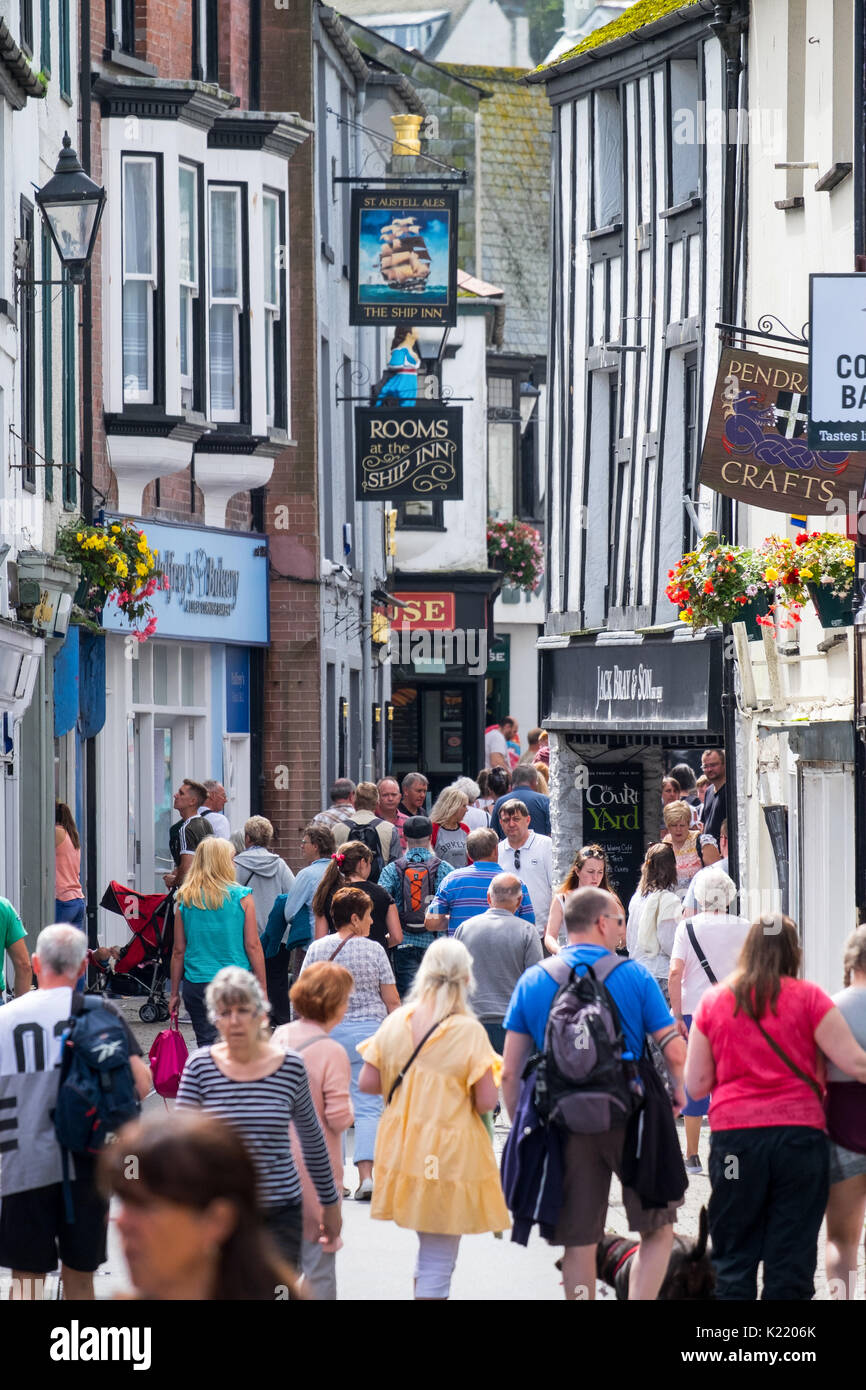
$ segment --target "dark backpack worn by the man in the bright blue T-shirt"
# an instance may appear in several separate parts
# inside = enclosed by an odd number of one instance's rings
[[[542,965],[559,990],[544,1051],[530,1062],[535,1066],[535,1108],[545,1123],[570,1134],[606,1134],[624,1125],[642,1099],[637,1065],[623,1059],[620,1016],[605,988],[605,980],[624,963],[610,952],[587,965],[585,974],[562,956]]]

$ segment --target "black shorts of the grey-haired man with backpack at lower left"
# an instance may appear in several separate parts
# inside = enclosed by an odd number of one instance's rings
[[[81,1169],[81,1159],[78,1161]],[[71,1183],[75,1220],[67,1222],[63,1183],[10,1193],[0,1202],[0,1265],[29,1275],[50,1275],[57,1258],[92,1275],[106,1262],[108,1202],[93,1170]]]

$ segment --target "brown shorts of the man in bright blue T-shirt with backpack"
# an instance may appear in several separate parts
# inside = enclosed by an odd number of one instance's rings
[[[606,1134],[567,1134],[563,1147],[563,1204],[552,1245],[596,1245],[605,1234],[610,1177],[620,1176],[626,1126]],[[628,1230],[651,1236],[673,1226],[685,1198],[645,1209],[631,1187],[623,1187]]]

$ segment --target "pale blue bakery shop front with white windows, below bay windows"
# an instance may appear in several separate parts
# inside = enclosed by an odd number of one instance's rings
[[[268,552],[263,535],[154,521],[146,532],[168,588],[152,599],[157,630],[147,642],[106,609],[99,863],[103,885],[114,878],[158,892],[171,869],[172,798],[185,777],[222,783],[232,830],[257,809]],[[124,930],[103,915],[104,942]]]

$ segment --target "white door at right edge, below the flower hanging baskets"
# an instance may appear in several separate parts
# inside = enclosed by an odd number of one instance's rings
[[[835,994],[842,948],[856,926],[851,769],[801,763],[799,806],[803,976]]]

